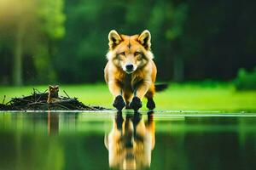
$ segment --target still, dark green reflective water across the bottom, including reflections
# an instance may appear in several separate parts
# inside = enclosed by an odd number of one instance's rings
[[[0,169],[256,169],[256,114],[0,112]]]

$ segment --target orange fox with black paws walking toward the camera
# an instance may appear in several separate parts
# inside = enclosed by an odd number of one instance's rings
[[[166,84],[155,85],[157,68],[151,52],[151,34],[127,36],[112,30],[108,34],[108,63],[104,69],[105,81],[113,94],[113,107],[118,111],[138,111],[142,99],[148,99],[147,107],[154,110],[154,94],[167,88]]]

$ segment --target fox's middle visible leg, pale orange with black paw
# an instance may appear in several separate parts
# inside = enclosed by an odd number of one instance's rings
[[[130,103],[130,107],[134,111],[138,111],[139,108],[143,106],[141,99],[143,99],[144,95],[148,92],[150,84],[150,81],[144,81],[141,84],[139,84],[138,87],[134,90],[134,97]]]

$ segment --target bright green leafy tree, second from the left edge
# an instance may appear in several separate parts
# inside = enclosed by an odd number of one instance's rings
[[[53,58],[56,54],[57,41],[65,35],[63,0],[40,0],[37,3],[37,18],[40,35],[33,53],[33,61],[37,70],[36,80],[32,82],[55,82],[56,72]]]

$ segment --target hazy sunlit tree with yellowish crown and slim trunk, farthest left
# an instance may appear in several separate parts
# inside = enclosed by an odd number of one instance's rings
[[[32,21],[32,2],[25,0],[22,4],[16,0],[3,0],[0,2],[0,21],[3,34],[12,39],[13,47],[13,82],[15,85],[22,84],[22,54],[23,38],[26,25]],[[14,29],[15,28],[15,29]],[[2,35],[3,36],[3,35]]]

